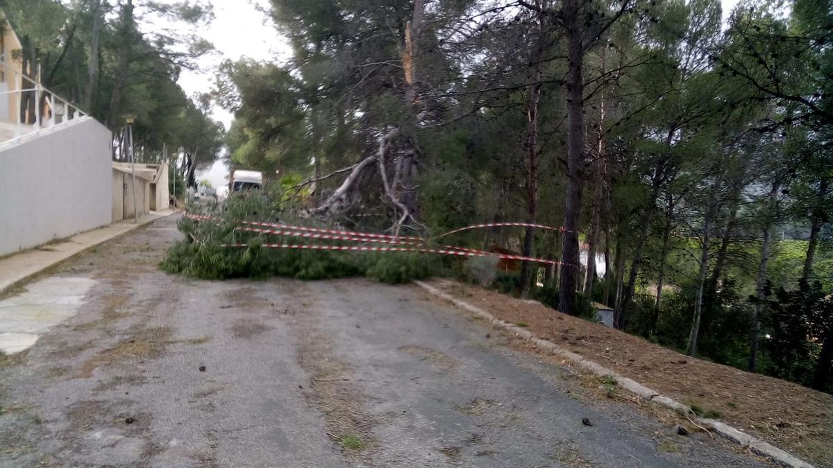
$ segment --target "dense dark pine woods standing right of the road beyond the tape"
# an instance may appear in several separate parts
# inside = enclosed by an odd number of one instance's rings
[[[717,0],[272,0],[292,58],[224,64],[227,144],[234,165],[311,188],[299,212],[348,227],[564,227],[456,241],[560,260],[516,281],[561,311],[601,302],[623,330],[827,388],[822,3],[742,2],[723,22]],[[774,306],[770,285],[809,292]],[[812,331],[779,326],[805,297],[825,304]],[[794,339],[801,377],[771,354]]]

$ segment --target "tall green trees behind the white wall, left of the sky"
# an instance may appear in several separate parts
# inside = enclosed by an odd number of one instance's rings
[[[212,19],[207,2],[0,0],[0,11],[21,38],[22,50],[12,52],[39,65],[43,86],[112,130],[115,157],[125,154],[128,115],[136,119],[137,156],[157,161],[163,147],[181,154],[190,186],[197,165],[219,155],[222,124],[205,97],[177,85],[212,49],[195,32]]]

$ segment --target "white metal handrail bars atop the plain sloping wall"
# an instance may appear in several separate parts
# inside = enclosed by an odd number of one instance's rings
[[[42,128],[46,127],[53,127],[59,123],[65,121],[64,117],[66,117],[66,121],[74,120],[78,117],[87,117],[87,112],[81,110],[80,107],[72,104],[72,102],[67,101],[57,95],[57,93],[52,92],[52,90],[48,89],[47,87],[43,86],[41,82],[36,79],[32,79],[31,77],[27,77],[21,71],[17,70],[14,67],[11,67],[8,63],[0,61],[0,67],[2,67],[2,72],[11,72],[13,86],[16,89],[0,92],[0,95],[7,95],[7,96],[15,96],[17,97],[16,106],[12,107],[12,112],[14,112],[14,117],[9,119],[9,123],[16,123],[15,127],[15,136],[12,137],[10,140],[6,142],[12,142],[17,138],[23,137],[25,134],[23,133],[23,125],[29,125],[27,122],[22,122],[22,114],[23,114],[23,96],[24,93],[34,93],[35,97],[35,105],[34,105],[34,122],[32,122],[33,130],[32,132],[27,133],[34,133],[38,132]],[[40,75],[40,70],[38,70],[38,76]],[[9,82],[10,80],[4,79],[2,82]],[[23,83],[26,82],[27,84],[31,84],[32,87],[23,88]],[[45,115],[49,115],[48,119],[44,119]],[[26,134],[27,134],[26,133]]]

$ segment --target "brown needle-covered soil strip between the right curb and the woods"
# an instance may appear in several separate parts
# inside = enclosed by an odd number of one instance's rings
[[[442,291],[818,466],[833,466],[833,396],[684,356],[536,301],[456,281]]]

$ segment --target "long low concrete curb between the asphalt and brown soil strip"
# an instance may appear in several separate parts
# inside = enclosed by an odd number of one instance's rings
[[[533,335],[531,331],[524,330],[519,326],[515,326],[511,323],[506,323],[504,321],[498,320],[489,312],[484,311],[476,306],[472,306],[466,301],[461,301],[460,299],[457,299],[456,297],[451,296],[450,294],[446,294],[445,292],[440,291],[436,287],[431,286],[425,282],[414,281],[414,283],[416,284],[416,286],[420,286],[422,289],[431,293],[431,295],[437,296],[446,301],[450,301],[455,306],[458,306],[461,309],[464,309],[475,314],[476,316],[481,317],[485,321],[488,321],[491,324],[491,326],[502,328],[516,336],[520,336],[526,341],[531,341],[535,344],[535,346],[543,350],[550,351],[553,355],[561,356],[568,361],[572,361],[577,366],[585,369],[586,371],[591,371],[596,376],[612,377],[616,380],[616,383],[619,384],[619,386],[624,388],[626,391],[630,391],[634,395],[639,396],[643,400],[651,401],[661,406],[665,406],[666,408],[669,408],[673,411],[681,412],[686,416],[694,414],[694,411],[691,411],[691,407],[683,405],[679,401],[676,401],[671,397],[664,396],[660,392],[643,386],[639,382],[629,379],[626,376],[622,376],[621,374],[615,371],[611,371],[605,366],[601,366],[597,362],[590,361],[589,359],[586,359],[572,351],[567,351],[566,349],[562,348],[561,346],[557,346],[551,341],[541,340],[541,338],[538,338],[535,335]],[[753,451],[754,453],[760,456],[766,456],[771,461],[775,461],[776,463],[782,466],[790,466],[791,468],[814,468],[814,466],[807,463],[806,461],[801,460],[797,456],[793,456],[789,452],[782,451],[776,446],[772,446],[768,442],[761,441],[760,439],[750,436],[749,434],[746,434],[746,432],[736,429],[735,427],[729,426],[725,423],[722,423],[721,421],[700,417],[695,417],[694,421],[696,421],[697,424],[701,426],[705,426],[711,429],[711,431],[715,431],[716,433],[720,434],[726,439],[733,441],[740,446],[748,448],[749,450]]]

